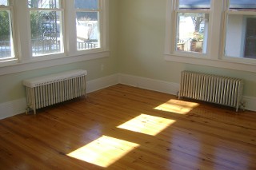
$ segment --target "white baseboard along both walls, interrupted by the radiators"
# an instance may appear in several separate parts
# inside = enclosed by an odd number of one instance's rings
[[[179,89],[178,83],[168,81],[158,81],[145,77],[136,77],[127,74],[113,74],[108,77],[98,78],[92,81],[86,82],[87,93],[94,92],[98,89],[104,89],[111,85],[117,85],[118,83],[123,85],[131,85],[142,89],[150,89],[157,92],[169,93],[176,95]],[[256,97],[244,96],[243,100],[246,101],[246,109],[256,111]],[[8,101],[0,103],[0,120],[6,117],[12,117],[14,115],[25,113],[26,98],[21,98],[15,101]]]

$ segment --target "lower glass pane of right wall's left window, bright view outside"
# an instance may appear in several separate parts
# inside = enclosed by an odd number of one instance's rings
[[[178,13],[176,50],[206,53],[209,14]]]

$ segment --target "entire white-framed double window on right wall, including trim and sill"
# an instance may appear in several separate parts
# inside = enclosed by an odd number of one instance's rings
[[[166,61],[256,72],[256,2],[167,0]]]

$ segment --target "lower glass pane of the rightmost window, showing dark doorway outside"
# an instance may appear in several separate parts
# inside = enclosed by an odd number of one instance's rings
[[[256,59],[255,16],[230,14],[226,24],[225,56]]]

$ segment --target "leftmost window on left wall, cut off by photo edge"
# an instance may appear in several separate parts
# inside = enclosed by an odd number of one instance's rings
[[[8,0],[0,0],[0,62],[15,58],[12,7]]]

